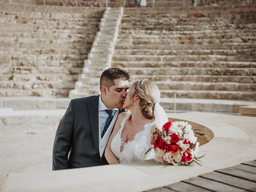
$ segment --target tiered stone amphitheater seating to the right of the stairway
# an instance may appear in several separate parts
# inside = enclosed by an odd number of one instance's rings
[[[127,8],[112,66],[164,98],[256,100],[256,6]]]

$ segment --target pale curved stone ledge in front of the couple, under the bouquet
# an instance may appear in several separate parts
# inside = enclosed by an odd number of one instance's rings
[[[206,126],[214,138],[200,146],[202,166],[166,166],[154,160],[41,173],[9,174],[2,191],[129,191],[138,192],[166,186],[256,159],[256,118],[189,112],[168,114]]]

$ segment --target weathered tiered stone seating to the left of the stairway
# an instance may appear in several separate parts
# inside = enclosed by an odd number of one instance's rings
[[[0,96],[68,96],[104,8],[1,4],[0,9]]]

